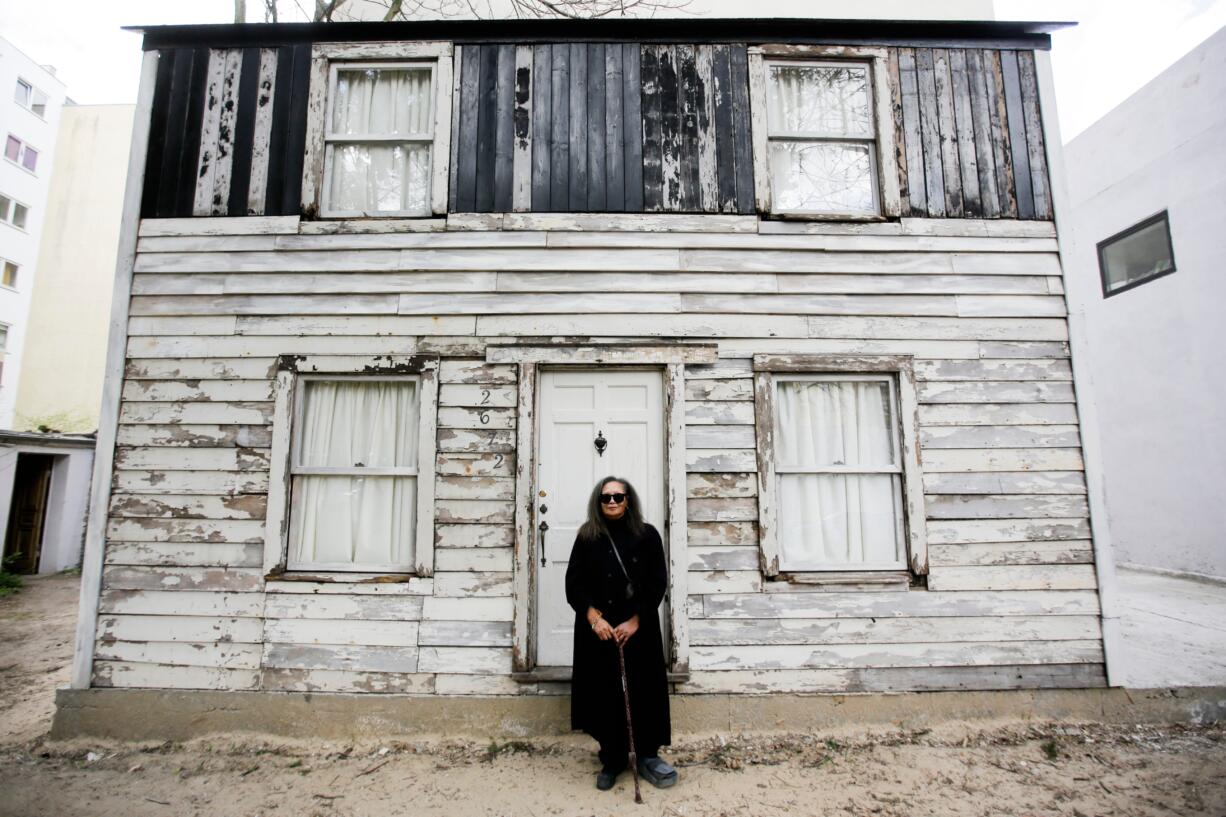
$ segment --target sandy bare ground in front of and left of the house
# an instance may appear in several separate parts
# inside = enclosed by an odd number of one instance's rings
[[[687,736],[673,789],[593,788],[584,737],[345,745],[222,735],[45,741],[67,680],[75,577],[0,600],[0,815],[852,815],[1226,817],[1226,725],[946,724]]]

